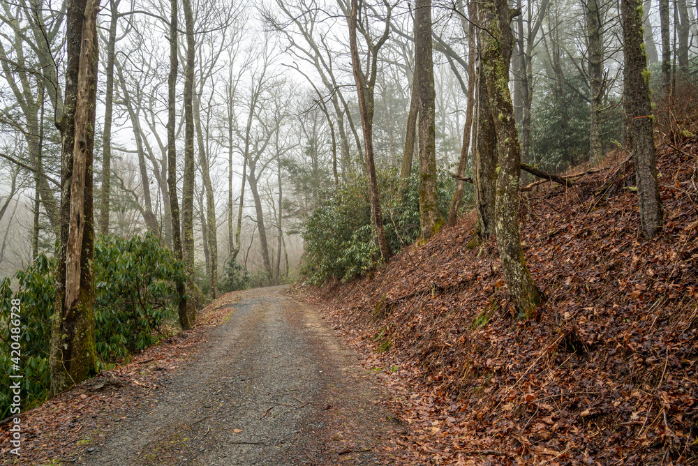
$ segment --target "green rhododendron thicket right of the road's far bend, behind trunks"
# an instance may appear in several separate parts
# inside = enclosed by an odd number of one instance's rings
[[[410,178],[402,197],[399,181],[397,172],[378,172],[385,238],[393,253],[414,243],[419,236],[419,177],[415,174]],[[437,190],[443,218],[448,216],[454,188],[454,179],[440,170]],[[468,191],[463,205],[471,198],[472,192]],[[346,281],[373,269],[380,254],[372,240],[371,207],[364,176],[351,174],[325,204],[313,210],[304,223],[302,236],[305,252],[301,273],[309,283],[322,283],[332,277]]]

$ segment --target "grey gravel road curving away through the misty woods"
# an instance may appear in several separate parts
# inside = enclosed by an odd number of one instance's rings
[[[283,287],[242,292],[227,322],[86,465],[376,464],[403,428],[318,310]]]

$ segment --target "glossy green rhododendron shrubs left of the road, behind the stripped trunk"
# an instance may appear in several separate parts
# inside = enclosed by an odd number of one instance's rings
[[[57,259],[39,255],[17,271],[13,295],[10,280],[0,282],[0,412],[10,408],[9,389],[21,374],[22,411],[41,403],[50,386],[48,370],[51,322],[56,294]],[[95,243],[95,338],[101,363],[116,361],[152,345],[165,322],[174,322],[178,296],[174,283],[184,280],[184,264],[174,259],[153,234],[122,239],[99,236]],[[12,299],[21,303],[20,361],[12,360]],[[20,367],[19,372],[12,365]]]

